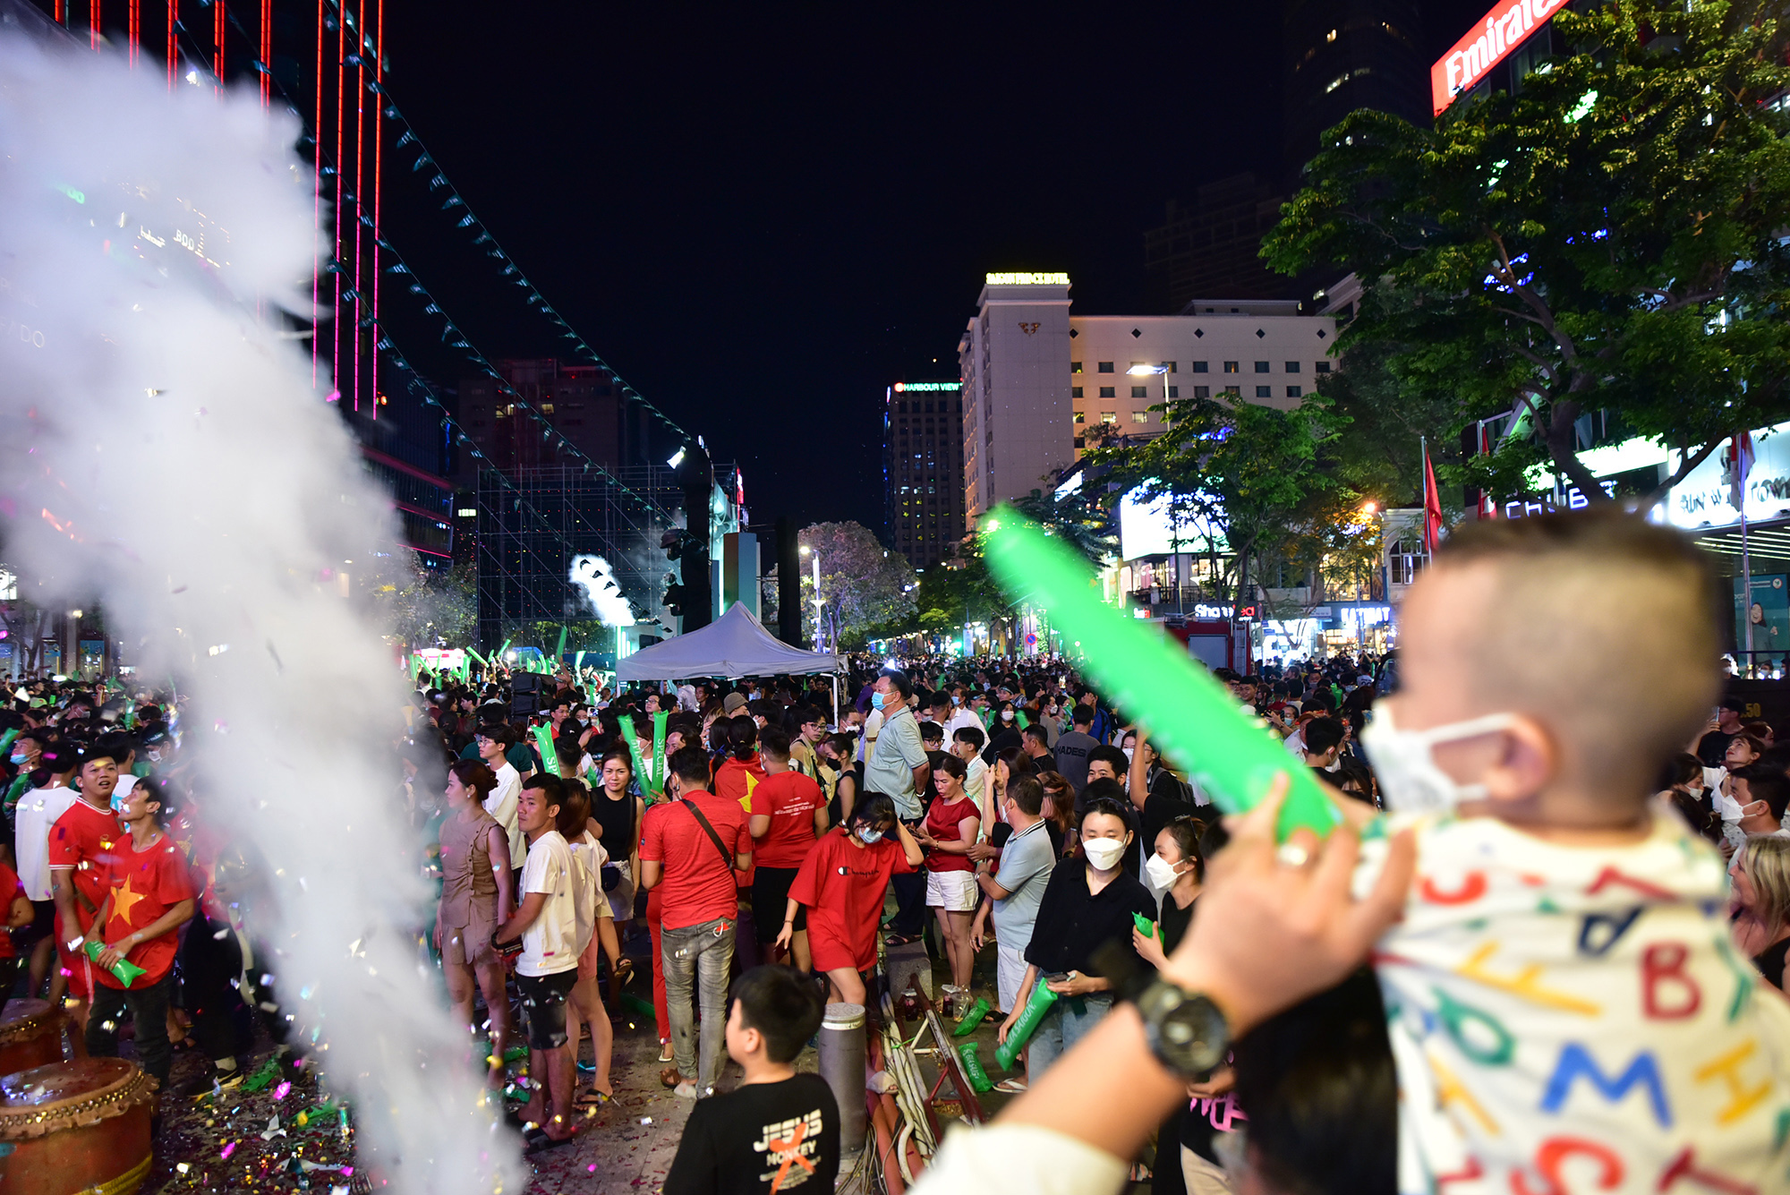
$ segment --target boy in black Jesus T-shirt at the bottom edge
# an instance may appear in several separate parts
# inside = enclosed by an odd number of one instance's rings
[[[840,1174],[840,1106],[820,1075],[798,1075],[820,1029],[820,993],[786,966],[755,966],[734,984],[727,1055],[746,1070],[737,1091],[698,1100],[664,1195],[831,1195]]]

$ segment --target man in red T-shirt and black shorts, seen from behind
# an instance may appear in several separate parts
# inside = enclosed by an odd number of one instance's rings
[[[764,780],[752,789],[752,923],[759,948],[770,952],[770,962],[784,962],[782,950],[771,950],[782,928],[784,902],[797,868],[814,850],[814,839],[827,832],[827,794],[809,776],[789,762],[789,735],[777,726],[766,726],[759,735],[759,759],[764,762]],[[807,914],[797,912],[795,937],[789,946],[798,971],[809,966]]]

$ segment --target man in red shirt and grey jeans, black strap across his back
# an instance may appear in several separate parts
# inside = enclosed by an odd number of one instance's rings
[[[714,1093],[727,1030],[727,970],[739,918],[736,871],[752,866],[746,810],[709,792],[709,757],[682,748],[666,760],[666,796],[646,810],[641,887],[661,889],[659,966],[666,977],[671,1068],[659,1082],[684,1098]],[[702,998],[702,1057],[691,1041],[693,989]]]

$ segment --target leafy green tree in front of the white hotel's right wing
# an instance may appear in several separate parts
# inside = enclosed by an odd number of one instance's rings
[[[1326,512],[1355,501],[1326,456],[1346,420],[1323,397],[1285,411],[1219,399],[1169,399],[1153,410],[1164,413],[1160,436],[1085,460],[1110,465],[1121,490],[1167,496],[1172,517],[1189,528],[1185,551],[1208,549],[1239,605],[1255,592],[1251,564],[1301,556],[1303,538],[1325,535]]]

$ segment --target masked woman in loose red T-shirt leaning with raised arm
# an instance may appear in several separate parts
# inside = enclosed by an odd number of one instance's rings
[[[863,1005],[863,971],[877,964],[877,923],[890,877],[916,871],[924,859],[895,818],[895,801],[866,792],[843,825],[820,835],[797,869],[777,948],[789,948],[797,912],[807,909],[814,970],[827,975],[838,1002]]]

